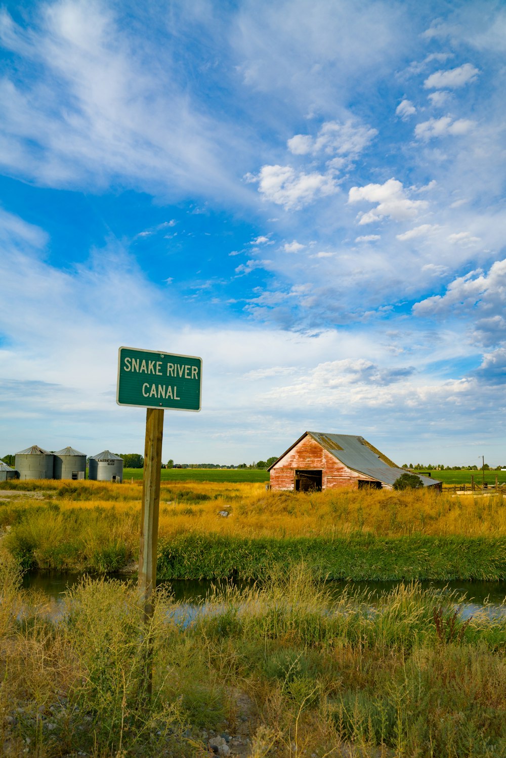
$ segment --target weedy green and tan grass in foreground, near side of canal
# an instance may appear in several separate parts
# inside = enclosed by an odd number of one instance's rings
[[[456,594],[336,602],[294,565],[216,591],[190,623],[160,592],[146,630],[127,585],[87,579],[52,620],[8,559],[0,572],[6,756],[205,756],[202,728],[240,726],[256,758],[506,755],[506,616],[464,620]]]

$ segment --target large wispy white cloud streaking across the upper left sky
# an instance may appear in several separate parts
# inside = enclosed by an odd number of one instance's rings
[[[58,188],[241,191],[237,156],[250,149],[240,133],[196,107],[170,56],[122,28],[120,11],[87,0],[39,11],[28,30],[2,14],[19,74],[0,81],[7,171]]]

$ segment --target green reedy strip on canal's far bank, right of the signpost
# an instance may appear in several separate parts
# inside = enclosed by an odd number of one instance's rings
[[[314,578],[354,581],[506,579],[506,537],[178,535],[159,543],[160,579],[253,579],[303,562]]]

